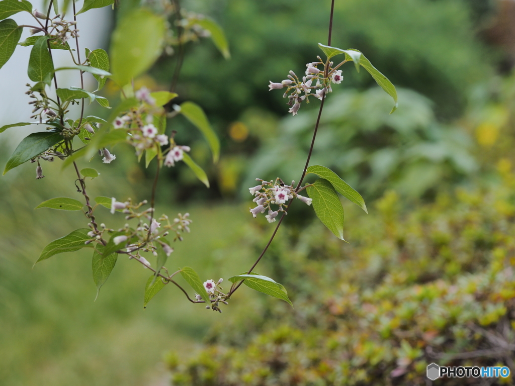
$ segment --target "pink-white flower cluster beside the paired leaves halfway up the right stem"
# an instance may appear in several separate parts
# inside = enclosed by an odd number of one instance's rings
[[[268,222],[274,222],[279,212],[286,213],[286,201],[294,197],[307,205],[311,205],[311,198],[301,196],[296,192],[295,181],[291,181],[291,185],[285,185],[280,178],[277,178],[275,182],[268,182],[259,178],[256,178],[256,181],[261,181],[261,185],[249,188],[250,194],[255,196],[252,201],[258,205],[249,208],[253,217],[256,217],[259,213],[265,213],[265,210],[268,209],[268,215],[265,217]],[[278,205],[278,208],[273,210],[271,205]]]

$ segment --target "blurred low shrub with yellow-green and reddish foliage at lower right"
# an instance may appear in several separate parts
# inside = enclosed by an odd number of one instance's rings
[[[269,302],[251,338],[214,328],[194,358],[168,362],[173,384],[425,384],[432,362],[513,371],[511,169],[499,185],[440,194],[409,214],[390,191],[352,220],[350,244],[318,223],[281,237],[266,261],[295,310]]]

